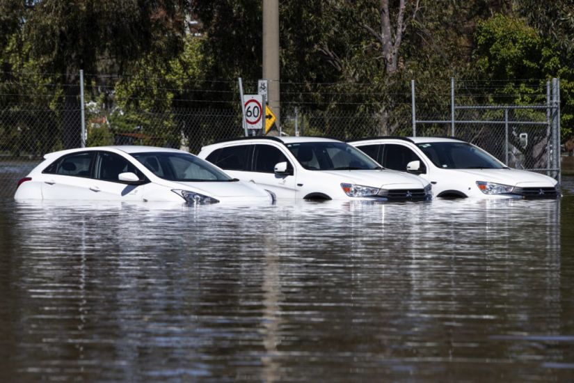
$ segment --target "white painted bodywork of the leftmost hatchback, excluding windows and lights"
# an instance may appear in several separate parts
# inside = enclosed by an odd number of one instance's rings
[[[127,159],[141,171],[150,182],[143,185],[127,185],[95,178],[72,175],[42,173],[52,162],[63,155],[99,150],[115,153]],[[62,150],[45,155],[45,161],[33,169],[27,177],[32,180],[22,182],[16,190],[16,200],[75,200],[75,201],[145,201],[184,203],[184,199],[172,192],[173,189],[196,192],[215,198],[221,203],[271,203],[269,193],[255,185],[241,181],[217,182],[175,182],[157,177],[152,171],[138,162],[129,153],[174,152],[176,149],[148,146],[106,146]],[[189,153],[186,153],[189,155]]]

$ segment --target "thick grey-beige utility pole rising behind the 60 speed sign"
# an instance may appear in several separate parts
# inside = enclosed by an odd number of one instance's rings
[[[263,0],[263,79],[269,80],[269,108],[280,128],[279,0]]]

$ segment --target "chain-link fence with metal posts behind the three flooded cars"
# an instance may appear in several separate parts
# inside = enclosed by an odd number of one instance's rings
[[[86,102],[85,136],[81,130],[81,105],[20,100],[1,102],[13,93],[1,93],[0,84],[0,196],[15,192],[17,180],[55,150],[86,146],[149,145],[181,148],[198,153],[202,146],[220,139],[244,136],[241,108],[221,107],[221,102],[198,102],[195,107],[141,108],[99,107]],[[75,88],[79,88],[76,86]],[[12,91],[14,92],[14,91]],[[28,91],[30,92],[30,91]],[[410,95],[406,95],[410,98]],[[414,96],[414,95],[413,95]],[[64,97],[65,98],[65,97]],[[75,97],[79,100],[79,97]],[[237,96],[239,100],[239,96]],[[72,100],[74,101],[74,100]],[[462,103],[461,103],[462,104]],[[282,106],[280,132],[275,134],[330,136],[356,139],[365,136],[458,136],[484,148],[509,166],[545,171],[559,177],[559,135],[556,123],[559,110],[548,109],[456,109],[444,102],[436,107],[405,102],[389,111],[345,109],[349,105],[334,103],[327,111],[310,109],[294,102]],[[390,110],[392,109],[392,110]],[[415,109],[417,116],[415,116]],[[412,115],[411,115],[412,111]],[[453,123],[454,121],[454,123]],[[505,123],[506,121],[506,123]],[[453,134],[454,127],[454,134]]]

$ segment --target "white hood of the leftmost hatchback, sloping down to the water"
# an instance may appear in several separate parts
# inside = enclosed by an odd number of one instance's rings
[[[269,194],[264,189],[249,182],[172,182],[174,188],[180,187],[204,194],[214,198],[218,197],[248,197],[248,198],[269,198]],[[176,186],[177,185],[177,186]]]

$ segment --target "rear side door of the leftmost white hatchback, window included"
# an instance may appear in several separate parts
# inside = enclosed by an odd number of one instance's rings
[[[95,151],[65,155],[42,171],[42,198],[89,200]]]

